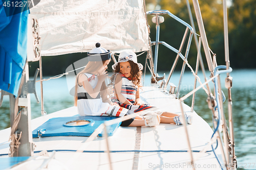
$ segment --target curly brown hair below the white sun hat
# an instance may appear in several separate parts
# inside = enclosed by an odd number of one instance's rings
[[[140,81],[141,81],[142,71],[139,70],[138,64],[134,63],[131,60],[128,60],[128,62],[131,65],[131,77],[130,78],[131,78],[133,84],[137,85],[138,88],[141,88]],[[116,72],[116,73],[120,72],[120,63],[117,63],[116,69],[114,70],[114,72]],[[114,82],[115,76],[116,76],[116,74],[114,74],[111,77],[111,82]]]

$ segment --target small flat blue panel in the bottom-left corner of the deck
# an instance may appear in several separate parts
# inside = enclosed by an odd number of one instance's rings
[[[28,160],[29,156],[24,157],[0,157],[0,169],[10,169],[13,165]]]

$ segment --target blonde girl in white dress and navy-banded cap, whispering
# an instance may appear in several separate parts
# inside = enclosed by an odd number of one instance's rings
[[[129,114],[129,110],[112,103],[108,99],[108,92],[105,79],[108,77],[106,69],[111,59],[109,50],[96,47],[88,53],[88,64],[79,72],[75,85],[75,106],[81,116],[124,116]],[[147,120],[135,120],[130,124],[126,122],[121,126],[156,126],[157,116],[152,116]],[[155,119],[154,119],[155,118]]]

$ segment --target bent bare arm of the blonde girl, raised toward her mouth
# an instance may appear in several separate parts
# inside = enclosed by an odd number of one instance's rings
[[[89,83],[88,77],[86,75],[84,75],[84,74],[79,76],[78,84],[82,84],[83,88],[88,92],[88,94],[92,98],[96,98],[97,95],[100,92],[100,88],[101,88],[102,82],[106,79],[106,77],[108,77],[108,74],[106,74],[106,72],[104,72],[104,74],[98,76],[98,83],[97,83],[97,85],[96,85],[96,87],[94,89],[91,86],[91,84]]]

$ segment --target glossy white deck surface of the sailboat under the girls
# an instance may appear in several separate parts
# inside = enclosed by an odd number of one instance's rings
[[[160,91],[155,87],[145,87],[141,92],[141,98],[146,103],[158,106],[163,111],[181,114],[179,101]],[[190,107],[184,106],[184,111],[189,112]],[[76,107],[64,109],[46,116],[32,120],[32,130],[45,123],[52,117],[73,116],[77,114]],[[192,150],[202,150],[210,140],[212,130],[209,125],[194,112],[193,124],[188,125],[188,133]],[[8,141],[10,128],[0,131],[0,154],[8,153]],[[105,139],[97,137],[88,143],[88,137],[60,136],[33,138],[36,144],[35,151],[42,150],[79,150],[79,151],[105,151]],[[109,137],[110,150],[188,150],[185,129],[183,125],[160,124],[157,127],[119,127],[113,136]],[[2,145],[1,145],[2,144]],[[211,150],[209,147],[208,150]],[[221,158],[220,147],[216,151]],[[51,153],[49,153],[51,155]],[[111,153],[113,169],[190,169],[188,162],[190,155],[186,152],[122,152]],[[199,153],[193,153],[194,158]],[[39,160],[31,160],[20,164],[14,169],[36,169],[46,157],[38,157]],[[222,160],[221,160],[222,162]],[[208,152],[195,161],[196,169],[220,169],[220,165],[213,152]],[[50,161],[48,169],[109,169],[107,153],[81,153],[81,152],[57,152],[55,158]]]

